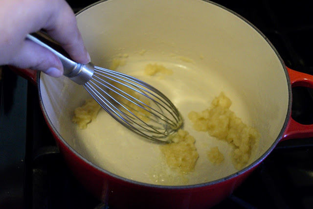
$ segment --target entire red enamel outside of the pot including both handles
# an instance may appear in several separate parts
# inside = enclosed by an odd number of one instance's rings
[[[37,71],[28,69],[11,68],[13,71],[37,83]],[[302,86],[313,88],[313,76],[287,68],[291,87]],[[41,98],[40,98],[41,99]],[[43,108],[43,107],[42,107]],[[173,209],[188,208],[201,209],[210,208],[220,203],[229,196],[234,189],[242,184],[248,175],[261,163],[264,158],[259,159],[254,166],[239,171],[235,175],[226,177],[212,184],[198,186],[154,186],[128,181],[88,163],[71,150],[67,143],[59,138],[53,131],[49,119],[45,120],[56,139],[60,152],[72,170],[76,178],[95,197],[114,208],[157,208]],[[292,138],[313,137],[313,125],[303,125],[294,121],[291,117],[284,131],[282,140]],[[269,152],[268,152],[269,154]]]

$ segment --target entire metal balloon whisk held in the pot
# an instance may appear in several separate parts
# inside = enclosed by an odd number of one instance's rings
[[[63,64],[63,74],[83,85],[105,111],[134,133],[157,143],[169,143],[170,136],[183,125],[178,109],[151,85],[92,63],[76,63],[43,32],[26,38],[55,53]]]

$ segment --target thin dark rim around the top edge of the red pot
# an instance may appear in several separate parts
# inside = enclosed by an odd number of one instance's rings
[[[99,0],[93,4],[90,4],[89,6],[83,8],[82,10],[80,10],[79,12],[77,12],[75,15],[79,15],[82,12],[86,11],[87,9],[89,9],[90,7],[93,7],[99,3],[102,3],[104,1],[107,0]],[[39,72],[37,74],[37,87],[38,87],[38,93],[39,93],[39,102],[42,108],[42,112],[45,116],[46,121],[48,122],[48,125],[50,126],[51,130],[54,132],[54,134],[58,137],[58,139],[60,140],[60,142],[62,142],[72,153],[74,153],[79,159],[81,159],[82,161],[84,161],[85,163],[89,164],[90,166],[92,166],[93,168],[97,169],[98,171],[105,173],[117,180],[122,180],[125,181],[127,183],[130,184],[134,184],[134,185],[138,185],[138,186],[145,186],[145,187],[154,187],[154,188],[161,188],[161,189],[192,189],[192,188],[200,188],[200,187],[205,187],[205,186],[211,186],[211,185],[216,185],[219,184],[221,182],[233,179],[245,172],[247,172],[250,169],[253,169],[254,167],[256,167],[259,163],[261,163],[267,156],[268,154],[275,148],[275,146],[277,145],[277,143],[282,139],[283,134],[285,129],[287,128],[287,125],[289,123],[289,119],[291,116],[291,100],[292,100],[292,92],[291,92],[291,81],[290,81],[290,77],[288,74],[288,70],[286,68],[286,65],[284,64],[284,61],[282,60],[282,58],[280,57],[278,51],[275,49],[275,47],[270,43],[270,41],[268,40],[268,38],[256,27],[254,26],[252,23],[250,23],[249,21],[247,21],[244,17],[242,17],[241,15],[237,14],[236,12],[216,3],[216,2],[212,2],[210,0],[202,0],[205,1],[207,3],[211,3],[213,5],[219,6],[220,8],[232,13],[233,15],[237,16],[238,18],[240,18],[241,20],[243,20],[245,23],[247,23],[249,26],[251,26],[257,33],[259,33],[268,43],[268,45],[273,49],[273,51],[275,52],[276,56],[279,58],[282,67],[284,69],[285,75],[286,75],[286,79],[287,79],[287,84],[288,84],[288,94],[289,94],[289,104],[288,104],[288,111],[287,111],[287,115],[284,121],[284,124],[282,126],[282,129],[280,130],[280,133],[278,134],[277,138],[275,139],[275,141],[272,143],[272,145],[268,148],[268,150],[261,156],[259,157],[257,160],[255,160],[253,163],[250,163],[248,166],[246,166],[245,168],[237,171],[236,173],[230,174],[224,178],[221,179],[217,179],[211,182],[205,182],[205,183],[201,183],[201,184],[194,184],[194,185],[184,185],[184,186],[164,186],[164,185],[154,185],[154,184],[148,184],[148,183],[142,183],[142,182],[138,182],[138,181],[134,181],[134,180],[130,180],[124,177],[121,177],[119,175],[116,175],[114,173],[111,173],[108,170],[105,170],[95,164],[93,164],[92,162],[88,161],[86,158],[84,158],[81,154],[79,154],[76,150],[74,150],[65,139],[62,138],[61,134],[56,130],[56,128],[53,126],[51,120],[49,119],[47,112],[45,110],[45,105],[43,103],[43,99],[41,96],[41,89],[40,89],[40,75],[41,72]]]

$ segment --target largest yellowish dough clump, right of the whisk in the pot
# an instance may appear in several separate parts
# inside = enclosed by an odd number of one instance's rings
[[[222,92],[212,101],[210,109],[200,113],[190,112],[188,117],[195,130],[208,131],[211,136],[234,146],[232,162],[240,170],[248,163],[260,134],[229,110],[230,105],[230,99]]]

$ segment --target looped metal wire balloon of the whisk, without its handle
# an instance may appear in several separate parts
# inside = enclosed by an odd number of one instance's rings
[[[179,111],[164,94],[132,76],[94,67],[84,87],[114,119],[145,138],[166,143],[182,125]]]

